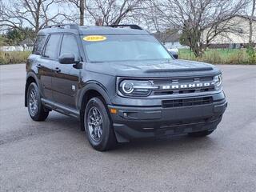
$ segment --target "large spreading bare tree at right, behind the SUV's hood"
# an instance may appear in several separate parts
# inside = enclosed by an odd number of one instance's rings
[[[246,7],[247,0],[152,0],[166,27],[186,33],[196,57],[219,34],[234,31],[230,22]],[[235,32],[235,31],[234,31]]]

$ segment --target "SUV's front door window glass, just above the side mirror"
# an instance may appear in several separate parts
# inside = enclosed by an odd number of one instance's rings
[[[62,39],[62,47],[61,47],[61,55],[62,54],[74,54],[74,58],[78,59],[79,50],[78,43],[74,35],[64,34]]]

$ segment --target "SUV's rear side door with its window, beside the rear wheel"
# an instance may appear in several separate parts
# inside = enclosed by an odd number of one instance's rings
[[[38,59],[39,74],[42,82],[44,98],[53,101],[52,78],[54,77],[54,65],[58,62],[59,43],[62,34],[50,34],[46,46],[42,51],[42,57]]]

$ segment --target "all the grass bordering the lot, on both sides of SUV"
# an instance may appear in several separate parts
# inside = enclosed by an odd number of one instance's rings
[[[22,63],[26,62],[26,58],[29,56],[30,51],[14,51],[14,52],[1,52],[0,51],[0,65],[10,63]],[[198,62],[209,62],[213,64],[254,64],[256,61],[252,61],[246,49],[213,49],[206,50],[202,58],[194,58],[194,54],[187,49],[179,50],[178,57],[186,60],[194,60]],[[255,57],[256,58],[256,57]]]

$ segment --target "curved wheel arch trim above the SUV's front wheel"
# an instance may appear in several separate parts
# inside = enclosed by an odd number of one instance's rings
[[[106,87],[103,86],[100,82],[89,81],[89,82],[85,83],[85,86],[82,87],[81,90],[79,90],[79,94],[78,94],[78,109],[81,109],[83,96],[89,90],[96,90],[96,91],[98,91],[98,93],[101,94],[102,97],[104,98],[104,100],[106,101],[106,104],[107,105],[111,104],[110,97],[109,97],[109,95],[106,92]]]

